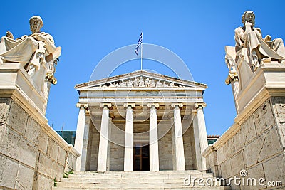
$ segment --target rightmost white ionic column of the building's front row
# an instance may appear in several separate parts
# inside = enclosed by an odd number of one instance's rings
[[[203,112],[203,107],[206,107],[205,103],[196,103],[195,104],[196,110],[197,110],[197,115],[195,115],[196,122],[193,122],[194,127],[198,128],[199,131],[199,143],[200,145],[200,154],[201,154],[201,165],[199,167],[199,170],[205,171],[207,170],[206,168],[206,159],[202,157],[202,152],[208,147],[208,141],[207,141],[207,132],[206,132],[206,124],[204,120],[204,112]],[[196,125],[196,126],[195,126]]]

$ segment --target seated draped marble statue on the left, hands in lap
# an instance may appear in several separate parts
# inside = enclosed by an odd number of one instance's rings
[[[46,76],[51,78],[55,72],[54,65],[61,55],[61,47],[56,48],[53,37],[41,32],[43,20],[40,16],[32,16],[29,23],[31,35],[14,39],[13,34],[7,31],[1,38],[0,64],[20,63],[31,75],[34,85],[41,89]],[[53,83],[56,83],[54,78]]]

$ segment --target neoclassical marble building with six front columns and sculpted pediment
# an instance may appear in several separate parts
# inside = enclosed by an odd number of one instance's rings
[[[76,85],[76,169],[206,170],[206,88],[145,70]]]

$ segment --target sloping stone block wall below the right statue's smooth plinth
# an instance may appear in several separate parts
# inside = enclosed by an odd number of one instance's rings
[[[229,179],[245,169],[248,178],[282,181],[285,186],[285,97],[269,97],[241,125],[235,124],[203,153],[207,169]],[[235,186],[264,189],[269,186]]]

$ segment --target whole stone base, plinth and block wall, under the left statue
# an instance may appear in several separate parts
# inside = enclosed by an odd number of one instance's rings
[[[1,64],[0,79],[0,189],[51,189],[79,153],[48,125],[46,97],[20,64]]]

